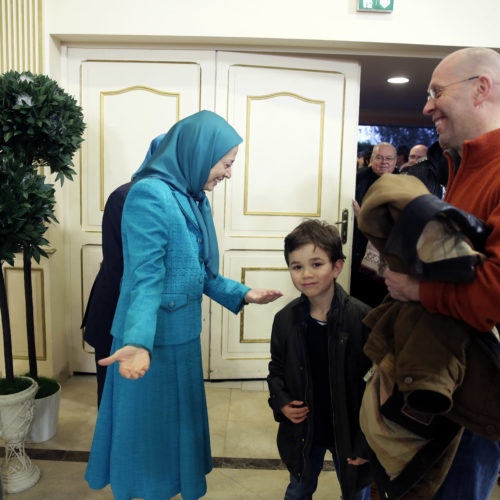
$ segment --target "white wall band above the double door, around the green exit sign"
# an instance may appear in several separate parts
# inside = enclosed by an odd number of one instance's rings
[[[63,41],[500,47],[498,0],[394,0],[390,14],[356,12],[356,1],[44,0],[44,31]]]

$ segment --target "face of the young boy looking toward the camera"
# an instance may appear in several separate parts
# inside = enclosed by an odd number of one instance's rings
[[[295,288],[309,299],[333,297],[334,280],[342,271],[344,262],[332,264],[328,254],[313,243],[290,252],[288,269]]]

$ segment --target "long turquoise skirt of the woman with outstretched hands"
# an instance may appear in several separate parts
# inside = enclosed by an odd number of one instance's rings
[[[112,352],[122,347],[114,339]],[[197,500],[212,469],[199,337],[155,346],[137,380],[108,368],[85,479],[117,500]]]

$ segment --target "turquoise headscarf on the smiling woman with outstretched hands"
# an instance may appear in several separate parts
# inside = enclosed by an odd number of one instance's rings
[[[178,121],[133,175],[134,181],[145,177],[162,179],[188,197],[203,235],[203,260],[211,278],[219,273],[219,248],[203,186],[211,168],[242,141],[224,118],[200,111]]]

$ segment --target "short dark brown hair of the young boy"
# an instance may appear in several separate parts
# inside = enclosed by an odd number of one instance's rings
[[[345,259],[338,229],[322,220],[306,219],[285,238],[286,264],[290,264],[290,252],[309,243],[325,251],[332,264],[339,259]]]

